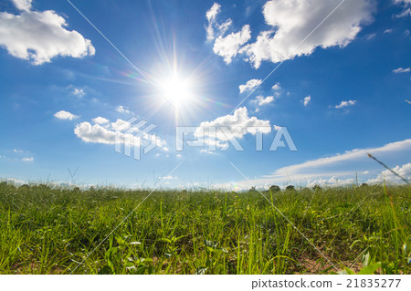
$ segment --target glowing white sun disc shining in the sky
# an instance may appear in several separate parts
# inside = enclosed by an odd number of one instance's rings
[[[163,82],[163,95],[176,106],[184,105],[193,98],[192,84],[189,79],[174,75]]]

